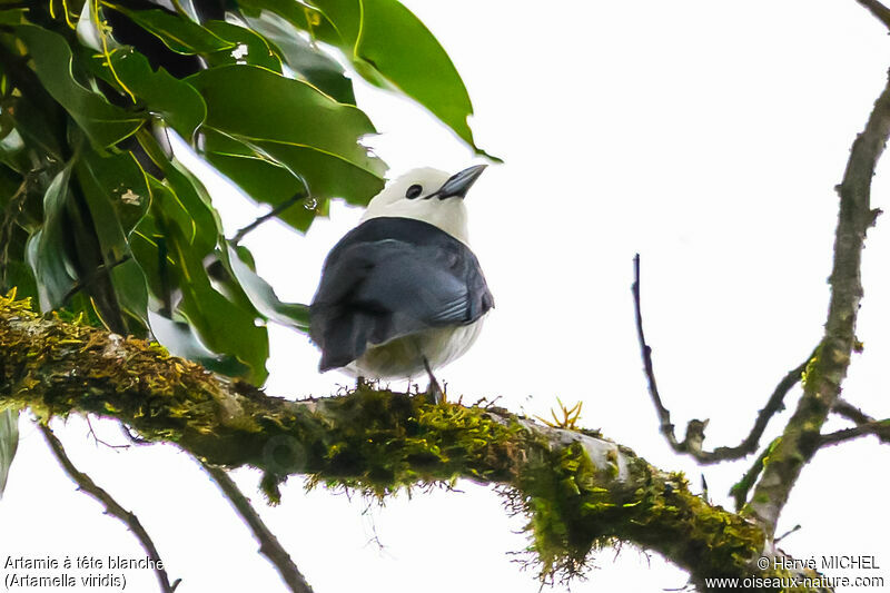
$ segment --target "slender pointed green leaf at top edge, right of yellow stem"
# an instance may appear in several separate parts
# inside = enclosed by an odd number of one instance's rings
[[[218,38],[197,22],[171,14],[166,10],[129,10],[112,3],[105,3],[105,6],[122,12],[177,53],[210,53],[235,47],[230,41]]]

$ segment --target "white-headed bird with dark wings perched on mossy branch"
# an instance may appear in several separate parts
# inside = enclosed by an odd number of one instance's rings
[[[494,307],[468,244],[467,190],[485,170],[414,169],[375,196],[330,250],[309,305],[319,370],[365,379],[434,375],[473,345]]]

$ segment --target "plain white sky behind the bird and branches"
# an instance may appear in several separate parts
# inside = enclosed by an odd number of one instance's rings
[[[449,395],[501,395],[506,407],[538,415],[557,396],[581,399],[585,426],[660,467],[686,471],[698,487],[701,470],[669,451],[645,392],[632,257],[643,257],[646,332],[674,422],[708,417],[708,445],[738,444],[821,335],[832,188],[883,86],[886,31],[853,0],[406,4],[463,75],[479,145],[506,161],[467,198],[496,309],[469,354],[439,372]],[[395,174],[472,162],[422,109],[364,87],[358,95],[383,132],[374,147]],[[881,167],[878,207],[888,207],[887,177]],[[256,216],[219,199],[231,229]],[[307,302],[324,255],[359,215],[336,206],[305,238],[269,224],[247,245],[279,296]],[[844,386],[849,401],[877,417],[890,416],[889,258],[881,220],[864,260],[866,352]],[[269,393],[326,395],[348,380],[317,374],[305,336],[273,327],[271,339]],[[787,417],[771,424],[763,444]],[[184,579],[178,591],[285,591],[187,455],[172,446],[97,447],[79,418],[56,426],[77,465],[139,515],[170,576]],[[120,442],[110,424],[99,433]],[[890,583],[887,454],[873,439],[820,452],[783,514],[780,532],[802,525],[783,547],[800,557],[874,555],[880,571],[830,575]],[[711,497],[731,506],[726,492],[751,462],[706,468]],[[259,502],[258,474],[236,477]],[[507,518],[490,490],[459,487],[380,510],[320,490],[305,494],[291,480],[280,507],[260,502],[259,510],[317,593],[536,592],[533,575],[508,555],[524,546],[515,533],[522,518]],[[10,554],[144,555],[75,491],[27,423],[0,530],[0,562]],[[383,548],[368,543],[375,534]],[[629,546],[603,551],[595,563],[590,581],[572,591],[654,593],[685,583],[681,571]],[[126,574],[128,591],[157,590],[150,571]]]

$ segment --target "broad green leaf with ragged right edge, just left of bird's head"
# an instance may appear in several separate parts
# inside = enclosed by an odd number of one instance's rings
[[[280,215],[295,228],[308,228],[330,198],[366,204],[383,188],[385,165],[358,144],[375,131],[359,109],[249,66],[206,70],[189,81],[207,101],[205,150],[214,166],[273,206],[305,192],[305,180],[315,201]]]

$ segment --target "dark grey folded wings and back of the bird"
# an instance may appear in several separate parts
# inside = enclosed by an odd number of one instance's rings
[[[493,305],[478,260],[457,240],[363,241],[326,263],[310,307],[310,334],[327,370],[348,365],[368,344],[466,325]]]

